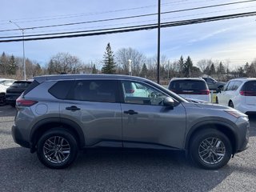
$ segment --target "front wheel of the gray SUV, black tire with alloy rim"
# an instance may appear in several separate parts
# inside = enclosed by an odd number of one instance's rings
[[[214,129],[200,130],[190,141],[190,157],[206,170],[217,170],[230,161],[232,146],[222,132]]]

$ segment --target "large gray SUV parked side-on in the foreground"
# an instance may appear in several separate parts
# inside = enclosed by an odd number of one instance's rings
[[[246,114],[125,75],[36,77],[16,107],[14,141],[55,169],[98,147],[185,150],[198,166],[218,169],[249,140]]]

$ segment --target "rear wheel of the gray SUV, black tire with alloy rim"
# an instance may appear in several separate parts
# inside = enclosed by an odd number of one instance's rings
[[[74,162],[78,154],[78,143],[69,131],[54,128],[39,138],[37,154],[45,166],[62,169]]]

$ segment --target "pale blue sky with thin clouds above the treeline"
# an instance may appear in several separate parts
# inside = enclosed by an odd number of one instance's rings
[[[161,12],[212,6],[245,0],[162,0]],[[158,16],[119,19],[110,22],[92,22],[158,13],[158,0],[2,0],[0,11],[0,38],[22,35],[59,33],[76,30],[145,25],[157,23]],[[223,14],[256,11],[256,1],[217,6],[208,9],[162,14],[161,22],[206,18]],[[11,22],[13,23],[11,23]],[[89,22],[73,26],[37,28],[74,22]],[[16,23],[18,26],[14,25]],[[7,31],[6,31],[7,30]],[[10,31],[8,31],[10,30]],[[1,40],[0,39],[0,40]],[[26,58],[46,66],[54,55],[65,52],[77,56],[84,63],[100,62],[110,42],[112,50],[133,48],[146,57],[155,57],[158,48],[158,30],[141,30],[121,34],[105,34],[80,38],[59,38],[25,42]],[[161,54],[170,62],[190,56],[194,64],[201,59],[243,66],[256,58],[256,16],[234,18],[218,22],[174,26],[161,29]],[[0,53],[22,57],[22,42],[0,42]]]

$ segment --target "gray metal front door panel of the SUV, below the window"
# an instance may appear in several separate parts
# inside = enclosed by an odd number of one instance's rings
[[[125,114],[134,110],[138,114]],[[186,130],[186,112],[182,104],[173,110],[166,106],[122,104],[124,147],[182,148]]]

